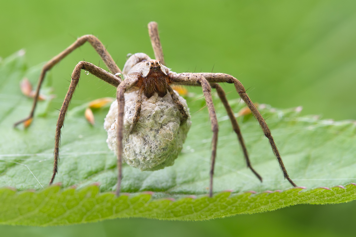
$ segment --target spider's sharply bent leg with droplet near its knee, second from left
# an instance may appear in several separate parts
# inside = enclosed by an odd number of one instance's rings
[[[53,174],[52,174],[51,181],[49,181],[49,184],[53,183],[54,177],[56,176],[56,174],[58,172],[59,142],[61,140],[61,128],[63,126],[64,118],[66,117],[66,113],[68,111],[68,106],[70,104],[70,100],[72,99],[75,88],[78,85],[80,71],[82,69],[88,70],[94,76],[99,77],[101,80],[106,81],[115,87],[119,86],[121,83],[121,80],[119,80],[116,76],[105,71],[104,69],[101,69],[101,68],[95,66],[94,64],[81,61],[77,64],[77,66],[75,66],[73,73],[72,73],[72,81],[70,82],[66,98],[64,98],[62,108],[61,108],[61,111],[59,112],[59,116],[58,116],[58,120],[57,120],[55,145],[54,145]]]

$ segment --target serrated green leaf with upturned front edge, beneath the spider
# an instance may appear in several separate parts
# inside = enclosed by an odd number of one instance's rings
[[[47,187],[58,111],[50,112],[49,101],[41,102],[28,129],[12,127],[32,105],[31,99],[22,96],[19,81],[28,77],[35,83],[41,70],[41,65],[26,69],[23,54],[17,52],[0,62],[0,223],[66,225],[116,217],[206,220],[301,203],[356,199],[356,185],[348,184],[356,179],[354,121],[301,117],[300,108],[259,106],[290,177],[307,187],[303,189],[291,188],[283,179],[256,120],[251,115],[238,117],[252,165],[263,177],[260,183],[246,168],[236,134],[216,95],[220,130],[213,198],[206,196],[212,134],[200,95],[188,98],[192,128],[175,164],[153,172],[124,165],[122,191],[126,194],[119,198],[112,192],[116,188],[116,157],[106,145],[102,125],[108,108],[94,112],[97,122],[91,126],[84,118],[87,104],[75,107],[73,103],[62,129],[55,179],[61,185]],[[49,92],[44,88],[43,93]],[[244,108],[239,100],[230,103],[235,112]]]

